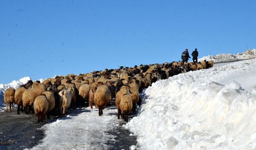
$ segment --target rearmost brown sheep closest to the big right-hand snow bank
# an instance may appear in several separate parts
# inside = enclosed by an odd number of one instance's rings
[[[128,114],[132,110],[132,98],[130,94],[124,94],[120,101],[120,110],[122,116],[124,116],[124,121],[128,122]]]

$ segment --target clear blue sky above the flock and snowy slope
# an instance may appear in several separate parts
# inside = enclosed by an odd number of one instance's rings
[[[1,0],[0,83],[256,48],[254,0]]]

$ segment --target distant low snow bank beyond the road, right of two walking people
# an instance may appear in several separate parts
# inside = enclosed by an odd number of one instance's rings
[[[217,54],[216,56],[205,56],[198,61],[210,61],[212,60],[213,62],[226,62],[226,61],[236,61],[236,60],[243,60],[243,59],[250,59],[250,58],[256,58],[256,50],[250,50],[248,49],[247,51],[243,53],[238,53],[238,54]]]

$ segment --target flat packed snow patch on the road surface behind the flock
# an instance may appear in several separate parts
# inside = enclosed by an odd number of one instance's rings
[[[115,107],[105,108],[103,116],[98,109],[83,108],[70,112],[56,122],[46,124],[45,138],[33,150],[107,150],[108,141],[115,142],[116,136],[109,134],[121,120],[117,120]]]

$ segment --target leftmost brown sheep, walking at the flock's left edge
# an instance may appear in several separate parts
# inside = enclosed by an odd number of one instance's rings
[[[4,92],[4,102],[6,103],[6,112],[11,112],[13,110],[14,95],[15,95],[14,88],[8,88]],[[12,109],[11,109],[11,106],[12,106]]]

